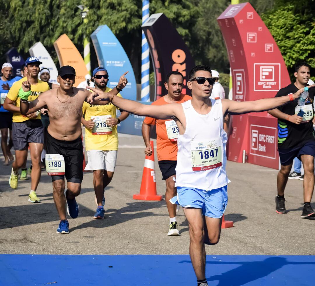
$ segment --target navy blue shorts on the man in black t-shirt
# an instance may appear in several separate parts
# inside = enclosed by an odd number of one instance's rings
[[[287,166],[292,164],[295,157],[298,157],[301,160],[301,155],[311,155],[315,157],[315,141],[309,141],[297,148],[289,150],[278,149],[278,151],[281,165]]]

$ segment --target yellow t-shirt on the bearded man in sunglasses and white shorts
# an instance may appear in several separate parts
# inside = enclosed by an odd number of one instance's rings
[[[106,87],[105,92],[112,90]],[[120,93],[117,96],[122,97]],[[113,104],[107,105],[92,105],[87,102],[83,103],[83,114],[85,120],[90,120],[91,117],[101,115],[111,115],[116,117],[116,106]],[[118,149],[118,134],[117,125],[112,127],[111,134],[96,135],[92,134],[92,131],[85,127],[85,148],[86,150],[117,150]]]

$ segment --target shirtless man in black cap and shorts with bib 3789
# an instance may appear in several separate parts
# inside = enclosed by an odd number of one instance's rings
[[[123,89],[127,84],[121,77],[117,88]],[[27,115],[41,108],[49,111],[50,124],[45,145],[47,146],[46,169],[52,175],[53,197],[60,216],[57,233],[69,233],[69,223],[66,219],[66,206],[72,219],[79,215],[79,206],[75,197],[80,194],[83,179],[83,145],[81,140],[82,105],[91,95],[86,89],[73,87],[76,72],[71,66],[63,66],[58,72],[59,88],[43,92],[36,100],[29,103],[28,93],[31,84],[28,80],[22,83],[19,91],[21,98],[21,114]],[[114,88],[111,94],[118,94]],[[64,193],[67,179],[67,190]]]

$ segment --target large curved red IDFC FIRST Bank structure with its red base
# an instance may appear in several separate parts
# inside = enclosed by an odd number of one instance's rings
[[[271,33],[249,3],[230,5],[217,19],[232,69],[233,100],[274,97],[290,84]],[[231,116],[228,160],[278,169],[277,119],[267,112]]]

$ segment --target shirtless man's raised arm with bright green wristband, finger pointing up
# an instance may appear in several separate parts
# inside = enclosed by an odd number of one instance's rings
[[[43,92],[40,96],[38,96],[34,101],[31,103],[28,102],[28,96],[31,92],[31,74],[29,76],[29,80],[23,81],[22,87],[19,90],[20,96],[20,112],[23,115],[28,115],[34,113],[41,108],[46,106],[46,102],[44,100],[45,94],[48,91]]]

